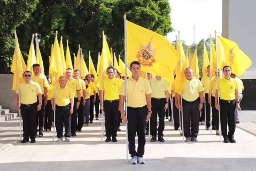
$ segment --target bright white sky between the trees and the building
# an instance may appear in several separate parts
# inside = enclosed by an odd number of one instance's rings
[[[169,0],[170,18],[174,31],[166,38],[173,42],[180,30],[180,39],[187,45],[193,44],[193,25],[195,24],[195,43],[206,40],[222,32],[222,0]]]

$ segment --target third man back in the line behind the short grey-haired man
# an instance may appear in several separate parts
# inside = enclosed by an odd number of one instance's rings
[[[84,105],[86,104],[86,83],[80,79],[80,71],[79,69],[74,70],[74,76],[75,79],[79,81],[81,90],[80,90],[80,95],[81,95],[81,103],[79,107],[77,108],[77,131],[81,132],[83,123],[84,123]]]

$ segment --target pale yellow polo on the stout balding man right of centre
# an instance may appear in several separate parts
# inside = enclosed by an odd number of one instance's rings
[[[196,77],[184,85],[182,98],[188,102],[193,102],[199,97],[199,92],[204,91],[203,84]]]

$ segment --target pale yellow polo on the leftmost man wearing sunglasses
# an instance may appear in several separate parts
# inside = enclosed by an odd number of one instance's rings
[[[15,91],[19,93],[18,86]],[[30,81],[30,83],[22,82],[20,83],[20,103],[25,105],[30,105],[37,102],[37,94],[41,93],[41,88],[38,83]]]

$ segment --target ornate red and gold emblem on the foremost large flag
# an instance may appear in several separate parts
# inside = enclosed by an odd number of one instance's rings
[[[153,66],[153,63],[156,62],[156,60],[154,59],[154,57],[156,56],[156,49],[153,51],[151,46],[152,38],[148,44],[144,46],[141,45],[141,47],[139,47],[139,51],[137,52],[137,58],[138,62],[141,65]]]

